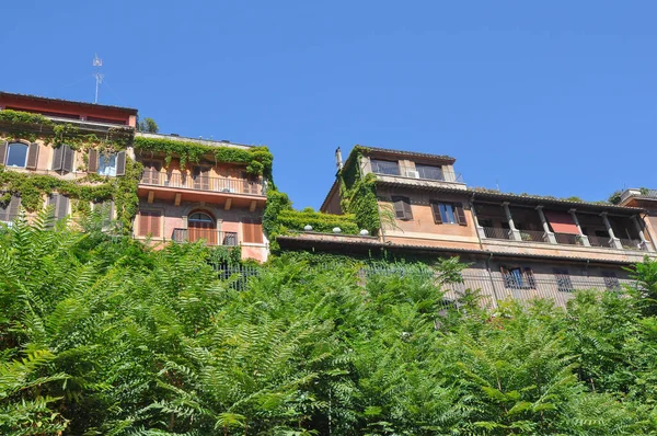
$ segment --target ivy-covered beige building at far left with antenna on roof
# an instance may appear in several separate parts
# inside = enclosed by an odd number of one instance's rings
[[[0,191],[2,195],[10,192],[11,199],[0,204],[0,220],[13,220],[21,205],[38,209],[39,202],[43,206],[53,205],[56,218],[73,211],[71,200],[80,208],[84,206],[81,203],[87,203],[87,208],[104,203],[107,198],[100,196],[83,200],[72,198],[68,192],[62,192],[65,183],[91,190],[102,184],[90,180],[91,174],[123,175],[126,151],[113,147],[131,142],[136,123],[135,108],[0,92],[0,165],[3,171],[54,180],[46,183],[42,179],[41,186],[54,188],[48,193],[42,190],[37,204],[32,204],[35,203],[34,195],[31,195],[31,203],[25,204],[25,198],[18,192],[19,183],[7,181]],[[32,190],[37,190],[36,185]],[[107,203],[108,213],[114,215],[112,200]]]

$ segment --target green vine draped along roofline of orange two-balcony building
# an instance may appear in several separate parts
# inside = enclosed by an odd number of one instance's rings
[[[180,159],[181,168],[186,168],[192,162],[200,162],[205,157],[211,156],[216,163],[242,163],[245,164],[246,173],[264,175],[267,180],[272,180],[274,157],[267,147],[252,147],[249,149],[211,147],[192,141],[138,136],[135,138],[135,149],[164,153],[166,165],[176,157]]]

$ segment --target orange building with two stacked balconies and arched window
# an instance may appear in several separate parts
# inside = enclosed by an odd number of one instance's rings
[[[141,149],[149,144],[178,142],[203,156],[181,164],[181,156]],[[208,245],[241,245],[243,259],[264,262],[268,245],[262,216],[266,203],[266,180],[246,171],[245,163],[217,162],[218,149],[249,152],[251,146],[227,140],[184,138],[177,135],[138,133],[137,161],[143,165],[139,181],[139,213],[134,226],[137,239],[197,241]],[[169,161],[168,161],[169,160]]]

